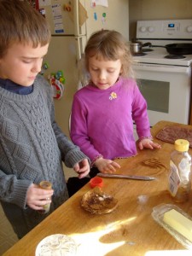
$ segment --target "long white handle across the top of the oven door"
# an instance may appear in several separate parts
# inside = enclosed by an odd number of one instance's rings
[[[190,73],[191,67],[183,66],[169,66],[169,65],[160,65],[152,63],[133,63],[133,69],[137,71],[156,71],[163,73]]]

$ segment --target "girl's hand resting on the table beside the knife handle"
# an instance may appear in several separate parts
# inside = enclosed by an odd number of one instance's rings
[[[120,168],[119,164],[113,160],[98,158],[94,165],[100,172],[103,173],[113,173],[116,172],[116,168]]]

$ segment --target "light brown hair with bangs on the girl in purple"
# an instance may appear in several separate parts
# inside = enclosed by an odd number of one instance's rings
[[[134,78],[132,71],[132,56],[129,42],[117,31],[101,30],[93,33],[88,40],[83,56],[83,73],[89,79],[89,58],[96,56],[98,60],[120,60],[122,64],[121,76]],[[83,78],[84,80],[84,78]],[[85,79],[86,80],[86,79]]]

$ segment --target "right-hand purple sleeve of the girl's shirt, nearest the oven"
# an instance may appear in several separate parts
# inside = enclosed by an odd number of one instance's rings
[[[138,137],[151,137],[147,113],[147,102],[141,94],[137,84],[134,87],[132,103],[132,118],[137,125]]]

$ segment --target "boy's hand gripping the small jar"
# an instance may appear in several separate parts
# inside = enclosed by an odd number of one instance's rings
[[[40,189],[37,184],[29,186],[26,192],[26,205],[33,210],[43,210],[44,205],[51,203],[53,189]]]

